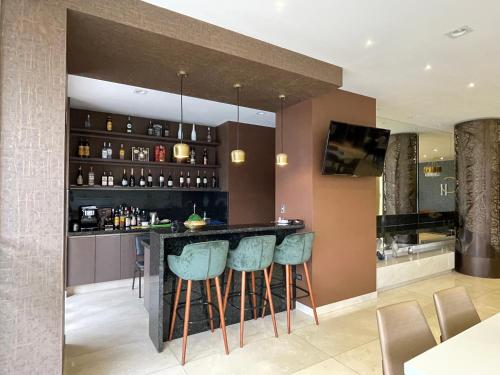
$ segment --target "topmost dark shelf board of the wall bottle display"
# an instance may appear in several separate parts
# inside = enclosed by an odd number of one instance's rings
[[[118,132],[108,132],[106,130],[93,130],[93,129],[85,129],[85,128],[72,128],[70,130],[70,136],[84,136],[88,138],[105,138],[118,140],[118,141],[140,141],[147,142],[151,144],[158,143],[170,143],[176,144],[179,143],[179,139],[174,137],[156,137],[153,135],[146,134],[128,134],[128,133],[118,133]],[[206,142],[206,141],[191,141],[188,139],[183,139],[183,143],[192,146],[205,146],[205,147],[217,147],[219,145],[218,142]]]

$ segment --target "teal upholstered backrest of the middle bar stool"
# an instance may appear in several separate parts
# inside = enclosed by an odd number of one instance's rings
[[[231,250],[231,267],[247,272],[259,271],[271,265],[276,245],[275,235],[243,237]]]

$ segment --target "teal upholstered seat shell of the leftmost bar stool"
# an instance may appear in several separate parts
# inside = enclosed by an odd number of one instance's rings
[[[183,280],[206,280],[226,268],[229,241],[198,242],[184,246],[179,256],[169,255],[170,270]]]

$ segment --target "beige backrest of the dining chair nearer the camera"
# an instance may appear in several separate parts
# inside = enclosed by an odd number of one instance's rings
[[[379,308],[377,324],[384,375],[403,375],[406,361],[436,345],[417,301]]]

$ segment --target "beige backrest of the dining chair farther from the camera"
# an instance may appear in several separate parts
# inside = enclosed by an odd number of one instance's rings
[[[448,340],[481,321],[463,286],[434,293],[441,340]]]

